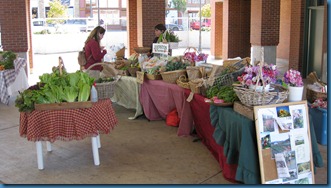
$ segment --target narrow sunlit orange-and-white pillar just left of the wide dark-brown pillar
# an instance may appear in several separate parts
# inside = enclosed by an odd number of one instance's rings
[[[222,58],[223,41],[223,2],[211,0],[211,40],[210,52],[215,59]]]

